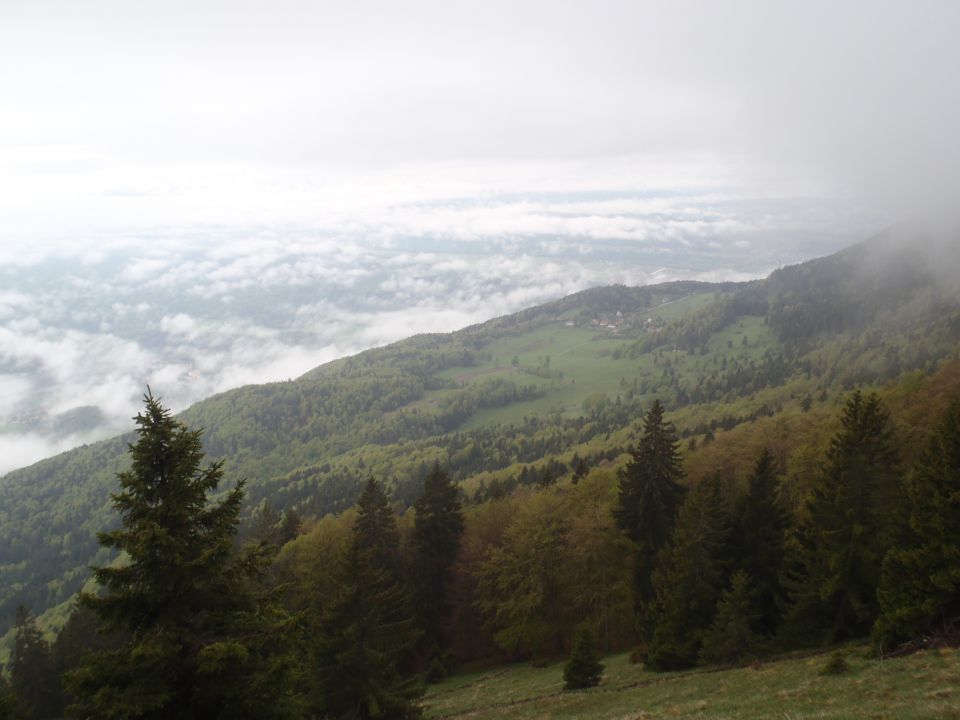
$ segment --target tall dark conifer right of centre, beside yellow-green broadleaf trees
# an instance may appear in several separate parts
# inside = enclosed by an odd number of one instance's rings
[[[673,530],[684,489],[679,440],[672,423],[663,419],[655,400],[643,420],[643,436],[619,472],[619,497],[614,517],[637,546],[635,599],[638,615],[653,598],[654,558]]]

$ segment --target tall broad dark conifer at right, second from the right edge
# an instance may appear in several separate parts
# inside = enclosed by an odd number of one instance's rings
[[[897,452],[876,394],[855,392],[804,509],[788,574],[786,639],[866,635],[877,616],[880,564],[901,537]]]

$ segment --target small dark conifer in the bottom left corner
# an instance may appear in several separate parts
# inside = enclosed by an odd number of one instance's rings
[[[36,617],[23,606],[17,608],[14,623],[10,684],[18,707],[27,717],[46,720],[60,716],[60,679],[53,667],[50,645],[37,627]]]

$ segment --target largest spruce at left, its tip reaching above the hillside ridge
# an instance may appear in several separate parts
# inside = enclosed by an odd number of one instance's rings
[[[201,468],[200,431],[148,393],[131,467],[119,473],[116,530],[99,534],[121,564],[95,567],[102,595],[84,595],[105,629],[129,639],[69,676],[71,713],[99,718],[282,716],[284,618],[255,580],[265,558],[233,551],[243,484],[210,503],[222,463]]]

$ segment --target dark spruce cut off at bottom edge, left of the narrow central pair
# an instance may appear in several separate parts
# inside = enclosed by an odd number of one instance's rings
[[[314,705],[330,717],[417,718],[422,688],[405,671],[419,634],[397,576],[396,521],[375,479],[364,486],[339,592],[314,649]]]

